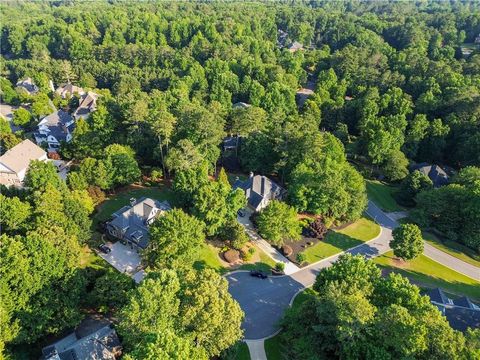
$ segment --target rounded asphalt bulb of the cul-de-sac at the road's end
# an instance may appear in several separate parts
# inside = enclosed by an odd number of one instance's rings
[[[242,324],[245,339],[261,339],[274,334],[290,300],[303,288],[290,276],[259,279],[242,271],[226,278],[230,294],[245,312]]]

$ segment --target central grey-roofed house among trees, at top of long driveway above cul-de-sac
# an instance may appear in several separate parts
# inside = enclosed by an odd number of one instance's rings
[[[245,181],[237,179],[233,189],[242,189],[245,192],[248,206],[254,211],[262,210],[270,200],[281,200],[285,195],[285,190],[272,180],[262,175],[254,176],[253,173],[250,173]]]

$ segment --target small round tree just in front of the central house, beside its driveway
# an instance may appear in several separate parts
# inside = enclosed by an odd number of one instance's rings
[[[259,234],[277,246],[286,240],[299,240],[302,231],[295,209],[278,200],[270,201],[260,212],[257,226]]]

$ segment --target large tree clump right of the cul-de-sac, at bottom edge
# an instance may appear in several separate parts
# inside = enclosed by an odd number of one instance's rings
[[[315,290],[281,322],[288,358],[461,359],[476,352],[418,287],[400,275],[382,277],[363,257],[340,257],[319,273]]]

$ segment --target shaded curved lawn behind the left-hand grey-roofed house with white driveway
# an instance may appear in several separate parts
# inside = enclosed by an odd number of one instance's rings
[[[170,205],[175,205],[175,197],[172,190],[163,185],[160,187],[139,187],[128,191],[122,191],[113,195],[98,206],[97,211],[93,216],[94,228],[99,222],[108,220],[115,211],[128,205],[131,198],[139,199],[141,197],[150,197],[160,201],[167,200]]]

